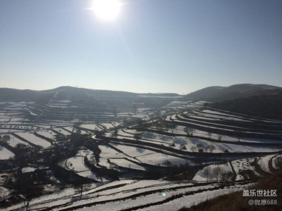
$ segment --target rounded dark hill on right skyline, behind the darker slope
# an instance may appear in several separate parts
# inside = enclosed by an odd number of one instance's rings
[[[235,84],[230,87],[207,87],[187,94],[187,101],[221,102],[235,98],[282,94],[282,87],[267,84]]]

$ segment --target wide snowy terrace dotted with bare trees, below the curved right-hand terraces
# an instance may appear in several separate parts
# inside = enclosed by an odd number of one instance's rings
[[[182,129],[182,132],[181,130]],[[136,130],[127,129],[124,132],[118,131],[118,135],[121,135],[119,138],[126,137],[126,139],[135,140],[135,133]],[[180,148],[180,146],[185,146],[185,151],[197,151],[197,146],[199,144],[202,145],[204,151],[212,152],[212,153],[225,153],[226,150],[230,153],[245,153],[245,152],[276,152],[281,151],[281,146],[250,146],[245,145],[245,142],[250,143],[281,143],[278,140],[271,140],[271,139],[252,139],[252,138],[242,138],[240,139],[242,144],[238,144],[238,138],[233,136],[222,136],[222,141],[218,141],[219,134],[208,134],[207,132],[200,131],[195,129],[193,132],[193,136],[195,137],[187,137],[187,133],[184,134],[183,128],[178,127],[176,132],[173,134],[177,134],[178,136],[168,136],[163,134],[157,134],[153,132],[143,132],[142,138],[140,141],[143,143],[156,143],[161,144],[164,146],[169,146],[170,144],[174,143],[174,148]],[[196,138],[199,137],[199,138]],[[205,139],[200,138],[211,138],[216,140],[208,141]],[[223,143],[222,143],[223,142]],[[230,143],[228,143],[230,142]],[[282,144],[282,143],[281,143]],[[194,148],[194,149],[193,149]]]

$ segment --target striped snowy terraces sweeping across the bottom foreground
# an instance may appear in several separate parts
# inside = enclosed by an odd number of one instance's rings
[[[193,200],[196,204],[208,198],[214,198],[233,191],[242,191],[250,184],[230,184],[221,189],[221,184],[192,184],[187,182],[169,181],[114,181],[101,184],[97,188],[85,191],[81,200],[79,194],[72,188],[60,191],[56,198],[54,194],[32,199],[29,210],[125,210],[142,207],[142,210],[177,210],[190,207]],[[118,186],[118,188],[115,188]],[[185,200],[183,200],[185,198]],[[121,203],[120,201],[123,201]],[[20,205],[9,207],[15,210]]]

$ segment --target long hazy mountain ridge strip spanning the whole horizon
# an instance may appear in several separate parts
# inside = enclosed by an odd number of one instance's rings
[[[246,98],[249,96],[262,96],[270,94],[282,94],[282,87],[274,87],[267,84],[235,84],[229,87],[206,87],[187,94],[181,98],[181,95],[175,93],[146,93],[137,94],[128,91],[111,91],[111,90],[99,90],[99,89],[85,89],[78,87],[57,87],[55,89],[48,89],[42,91],[34,91],[30,89],[10,89],[0,88],[0,102],[33,102],[38,98],[49,98],[50,95],[56,93],[71,93],[83,94],[85,96],[96,96],[106,98],[140,98],[141,96],[147,96],[151,98],[157,97],[178,97],[182,101],[210,101],[221,102],[233,100],[235,98]]]

